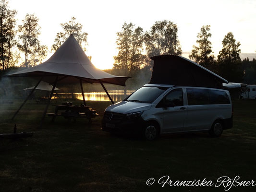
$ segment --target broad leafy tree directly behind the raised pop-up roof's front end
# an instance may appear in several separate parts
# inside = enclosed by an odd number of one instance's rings
[[[181,55],[177,25],[171,21],[157,21],[144,36],[148,57],[156,55]]]

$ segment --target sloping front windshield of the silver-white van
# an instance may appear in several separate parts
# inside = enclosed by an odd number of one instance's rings
[[[169,87],[141,87],[124,101],[152,103]]]

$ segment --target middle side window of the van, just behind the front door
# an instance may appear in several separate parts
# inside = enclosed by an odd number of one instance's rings
[[[208,105],[209,95],[207,89],[187,89],[188,105]]]

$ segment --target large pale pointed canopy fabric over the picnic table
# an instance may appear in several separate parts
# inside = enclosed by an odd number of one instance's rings
[[[42,81],[52,84],[58,76],[58,83],[74,83],[81,79],[87,83],[117,84],[125,86],[128,76],[116,76],[97,69],[73,35],[49,58],[32,68],[6,75],[7,77],[44,77]],[[65,78],[64,78],[65,77]]]

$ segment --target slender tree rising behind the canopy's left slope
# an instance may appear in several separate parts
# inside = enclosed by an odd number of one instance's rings
[[[24,66],[34,66],[40,63],[47,54],[47,46],[41,46],[38,36],[40,35],[40,27],[38,18],[34,14],[26,14],[23,24],[18,26],[19,43],[18,49],[24,52]]]

